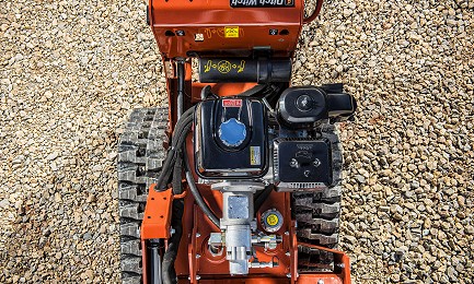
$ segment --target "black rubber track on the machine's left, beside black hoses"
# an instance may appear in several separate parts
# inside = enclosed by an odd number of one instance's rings
[[[118,142],[118,206],[120,215],[122,283],[141,283],[140,224],[148,188],[165,157],[167,107],[131,113]]]

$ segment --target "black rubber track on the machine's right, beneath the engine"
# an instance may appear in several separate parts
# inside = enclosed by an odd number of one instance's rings
[[[331,141],[333,156],[333,184],[323,191],[292,193],[292,214],[297,220],[298,240],[335,248],[339,238],[343,152],[336,129],[328,126],[322,131]],[[331,253],[330,253],[331,255]],[[300,271],[331,270],[333,256],[320,250],[299,247]]]

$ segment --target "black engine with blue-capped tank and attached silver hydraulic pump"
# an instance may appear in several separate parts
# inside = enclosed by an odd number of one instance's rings
[[[212,233],[209,247],[226,247],[232,275],[277,265],[251,262],[253,246],[271,248],[281,239],[257,230],[254,194],[269,186],[277,191],[331,186],[331,142],[319,129],[350,118],[356,109],[355,99],[338,84],[264,88],[233,97],[205,96],[196,108],[195,169],[199,182],[211,184],[223,198],[221,233]],[[273,233],[284,218],[269,210],[261,220],[265,232]]]

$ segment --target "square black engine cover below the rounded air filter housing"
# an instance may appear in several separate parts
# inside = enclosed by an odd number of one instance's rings
[[[333,181],[331,142],[276,139],[274,175],[277,191],[311,191]]]

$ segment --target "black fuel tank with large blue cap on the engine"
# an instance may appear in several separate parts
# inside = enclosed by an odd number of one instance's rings
[[[251,98],[199,103],[195,116],[196,173],[206,179],[252,179],[266,174],[267,115]]]

